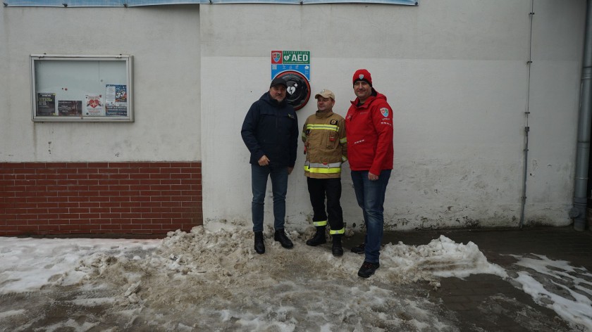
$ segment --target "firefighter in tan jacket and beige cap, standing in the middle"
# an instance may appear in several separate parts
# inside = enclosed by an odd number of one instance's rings
[[[314,215],[312,222],[316,233],[307,241],[307,245],[326,243],[327,222],[331,227],[333,245],[331,252],[335,256],[343,255],[341,237],[345,233],[341,198],[341,164],[347,161],[347,139],[345,138],[345,120],[333,113],[335,94],[323,89],[314,96],[317,111],[307,118],[302,129],[304,154],[304,175],[310,203]],[[327,210],[325,212],[325,198]]]

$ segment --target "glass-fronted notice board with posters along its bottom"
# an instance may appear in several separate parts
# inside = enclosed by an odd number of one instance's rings
[[[132,122],[132,56],[31,55],[32,120]]]

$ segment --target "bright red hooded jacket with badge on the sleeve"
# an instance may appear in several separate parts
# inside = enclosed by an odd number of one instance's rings
[[[372,90],[362,105],[358,98],[352,101],[345,115],[347,158],[352,171],[378,175],[393,169],[393,110],[386,96]]]

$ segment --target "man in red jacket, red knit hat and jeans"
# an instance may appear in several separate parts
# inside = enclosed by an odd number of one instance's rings
[[[368,278],[381,266],[383,204],[393,170],[393,110],[386,96],[372,87],[368,70],[356,70],[352,81],[357,98],[345,116],[347,158],[366,226],[364,243],[352,248],[352,252],[365,254],[358,276]]]

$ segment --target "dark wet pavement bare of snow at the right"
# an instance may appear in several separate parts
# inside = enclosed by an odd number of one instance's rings
[[[425,245],[440,235],[456,243],[475,243],[488,262],[500,265],[510,276],[525,269],[515,264],[517,256],[540,257],[537,255],[567,261],[572,267],[584,267],[592,272],[592,232],[575,231],[572,226],[386,231],[383,244],[401,241],[406,245]],[[346,250],[362,243],[362,236],[358,233],[346,238]],[[592,285],[592,280],[588,282]],[[475,274],[465,279],[444,278],[439,288],[425,287],[432,302],[443,312],[452,313],[460,331],[588,331],[569,325],[549,306],[536,303],[511,278]]]

